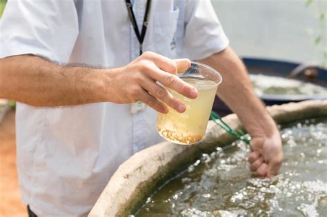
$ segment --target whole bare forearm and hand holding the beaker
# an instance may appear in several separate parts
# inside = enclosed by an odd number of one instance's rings
[[[153,52],[113,69],[56,65],[33,55],[9,56],[0,59],[0,65],[0,98],[37,107],[142,101],[158,112],[168,112],[167,105],[184,112],[185,105],[157,81],[190,99],[198,94],[176,76],[190,66],[190,60],[173,61]]]

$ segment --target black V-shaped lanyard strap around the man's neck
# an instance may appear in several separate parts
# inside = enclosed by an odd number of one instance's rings
[[[130,0],[125,0],[126,1],[126,7],[128,10],[128,16],[130,17],[130,21],[132,22],[134,32],[137,36],[137,39],[139,40],[139,54],[141,55],[143,50],[142,50],[142,45],[144,41],[144,37],[146,36],[146,28],[148,28],[148,20],[150,16],[150,8],[151,8],[151,0],[146,1],[146,14],[144,14],[144,19],[143,19],[143,25],[142,25],[142,32],[139,34],[139,28],[137,28],[137,22],[134,16],[134,12],[132,9],[132,3],[130,3]]]

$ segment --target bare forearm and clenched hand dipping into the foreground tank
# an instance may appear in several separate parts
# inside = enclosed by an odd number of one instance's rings
[[[261,176],[278,174],[283,158],[281,138],[273,118],[255,95],[245,65],[231,48],[199,60],[221,73],[224,81],[218,88],[221,99],[239,116],[251,135],[250,168]]]

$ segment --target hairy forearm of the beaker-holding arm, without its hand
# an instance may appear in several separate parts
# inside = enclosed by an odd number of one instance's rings
[[[105,101],[103,70],[65,67],[32,55],[0,59],[0,66],[0,98],[40,107]]]

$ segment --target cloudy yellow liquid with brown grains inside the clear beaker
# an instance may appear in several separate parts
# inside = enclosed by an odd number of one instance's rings
[[[188,99],[167,88],[172,96],[186,105],[186,111],[179,113],[169,107],[168,114],[158,113],[157,131],[168,141],[190,145],[204,137],[218,85],[215,81],[204,79],[182,80],[197,88],[199,95],[197,99]]]

